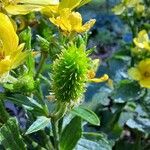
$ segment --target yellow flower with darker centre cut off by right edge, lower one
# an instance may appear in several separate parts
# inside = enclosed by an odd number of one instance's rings
[[[128,70],[129,76],[137,80],[141,87],[150,88],[150,58],[140,61],[136,67]]]

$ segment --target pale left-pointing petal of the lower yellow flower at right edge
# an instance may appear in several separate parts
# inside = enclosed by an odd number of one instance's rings
[[[128,74],[134,80],[140,80],[142,78],[141,73],[139,72],[139,70],[137,68],[134,68],[134,67],[130,68],[128,70]]]

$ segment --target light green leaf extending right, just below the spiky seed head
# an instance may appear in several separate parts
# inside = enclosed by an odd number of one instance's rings
[[[82,119],[86,120],[87,122],[93,125],[100,125],[100,120],[98,116],[91,110],[84,108],[84,107],[76,107],[71,111],[72,114],[81,117]]]

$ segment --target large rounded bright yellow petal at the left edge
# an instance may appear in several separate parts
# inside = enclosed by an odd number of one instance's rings
[[[0,52],[5,51],[5,55],[17,49],[18,36],[8,16],[2,13],[0,13],[0,41]]]

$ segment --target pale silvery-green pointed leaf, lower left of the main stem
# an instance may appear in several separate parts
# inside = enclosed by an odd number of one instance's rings
[[[29,127],[29,129],[27,130],[26,134],[31,134],[34,132],[37,132],[39,130],[44,129],[47,125],[49,125],[50,123],[50,119],[46,118],[44,116],[40,116],[38,117],[38,119],[33,122],[33,124]]]

